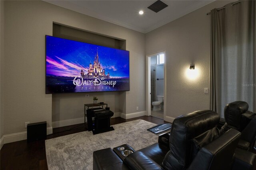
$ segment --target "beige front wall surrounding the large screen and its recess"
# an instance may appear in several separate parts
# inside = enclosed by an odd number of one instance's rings
[[[120,107],[123,113],[137,112],[136,106],[139,111],[146,110],[145,34],[42,1],[6,1],[4,8],[5,77],[1,77],[6,92],[1,101],[4,105],[4,134],[26,131],[26,121],[47,121],[51,127],[52,95],[45,94],[45,35],[52,35],[53,22],[126,40],[126,50],[130,51],[130,91],[122,92],[126,95],[122,95],[124,99],[120,101],[125,103],[120,103]],[[73,98],[81,99],[81,104],[91,102],[91,98],[86,99],[82,94],[63,94],[60,115],[54,115],[56,119],[65,117],[62,111],[67,107],[64,106]],[[102,100],[114,103],[116,99],[110,92]],[[112,107],[119,106],[112,104]],[[83,110],[70,108],[66,113],[75,112],[83,113]]]

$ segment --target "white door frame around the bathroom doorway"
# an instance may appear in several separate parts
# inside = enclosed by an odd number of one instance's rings
[[[146,55],[146,111],[151,115],[151,96],[150,96],[150,57],[164,53],[164,121],[166,120],[166,53],[165,50]]]

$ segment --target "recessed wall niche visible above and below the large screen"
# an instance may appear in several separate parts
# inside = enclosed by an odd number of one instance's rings
[[[54,37],[126,50],[126,40],[112,38],[56,23],[53,23],[52,29],[52,36]],[[89,94],[90,97],[85,97],[86,94]],[[84,104],[93,103],[93,96],[98,97],[98,102],[108,103],[110,110],[116,113],[122,112],[126,91],[52,94],[53,127],[59,127],[58,123],[60,121],[68,121],[72,124],[83,123]]]

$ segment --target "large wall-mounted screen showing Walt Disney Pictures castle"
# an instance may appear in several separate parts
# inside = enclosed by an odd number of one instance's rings
[[[46,36],[46,93],[129,90],[129,51]]]

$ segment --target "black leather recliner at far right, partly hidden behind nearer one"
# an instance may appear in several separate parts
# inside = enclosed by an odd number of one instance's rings
[[[227,104],[224,109],[226,123],[220,129],[220,135],[230,128],[241,132],[232,170],[252,170],[255,166],[256,155],[252,152],[256,140],[256,114],[248,111],[248,107],[244,101],[235,101]]]

